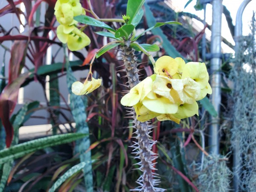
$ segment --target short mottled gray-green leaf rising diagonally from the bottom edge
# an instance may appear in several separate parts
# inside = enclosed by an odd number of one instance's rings
[[[93,161],[86,161],[86,162],[81,162],[73,167],[71,167],[67,172],[65,172],[61,177],[58,178],[58,180],[52,185],[52,187],[49,189],[48,192],[55,192],[58,187],[64,183],[65,180],[67,180],[69,177],[74,175],[76,172],[79,172],[81,169],[83,169],[85,166],[88,164],[91,164]]]

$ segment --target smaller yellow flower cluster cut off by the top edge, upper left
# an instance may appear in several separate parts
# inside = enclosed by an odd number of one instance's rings
[[[76,51],[90,44],[90,38],[76,28],[77,15],[85,15],[79,0],[57,0],[54,15],[60,25],[57,27],[58,39],[67,44],[71,51]]]

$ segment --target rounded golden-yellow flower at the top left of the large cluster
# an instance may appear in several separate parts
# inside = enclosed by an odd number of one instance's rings
[[[172,77],[178,71],[178,64],[174,58],[162,56],[157,59],[154,67],[154,72],[157,75]]]

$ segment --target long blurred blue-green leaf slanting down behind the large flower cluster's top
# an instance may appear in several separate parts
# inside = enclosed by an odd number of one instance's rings
[[[147,4],[145,4],[144,7],[145,7],[145,16],[146,16],[148,26],[155,26],[156,21],[155,21],[155,18],[153,17],[153,13],[149,9],[149,6]],[[165,49],[167,55],[169,55],[172,58],[176,58],[176,57],[183,58],[183,56],[180,55],[179,52],[177,52],[175,47],[172,46],[172,44],[170,43],[170,41],[168,40],[166,35],[163,34],[163,31],[160,28],[152,29],[152,33],[154,35],[159,35],[163,39],[162,46]]]

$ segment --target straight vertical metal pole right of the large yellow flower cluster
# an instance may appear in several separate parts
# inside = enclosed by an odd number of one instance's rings
[[[221,76],[219,73],[221,67],[221,18],[223,6],[222,0],[212,1],[212,39],[211,39],[211,86],[212,86],[212,105],[217,111],[217,117],[211,118],[209,127],[209,150],[211,154],[219,153],[219,115],[221,103]]]

